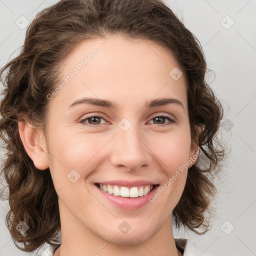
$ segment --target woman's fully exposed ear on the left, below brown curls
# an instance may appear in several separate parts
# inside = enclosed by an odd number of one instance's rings
[[[37,169],[48,168],[47,149],[43,131],[35,129],[27,121],[18,121],[18,131],[20,139],[28,156],[32,159]]]

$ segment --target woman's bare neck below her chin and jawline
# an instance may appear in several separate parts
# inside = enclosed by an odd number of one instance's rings
[[[77,220],[59,201],[61,222],[61,245],[54,256],[179,256],[172,231],[171,216],[149,239],[142,236],[130,237],[120,242],[117,235],[113,237],[100,236]],[[102,227],[103,228],[103,227]],[[119,231],[119,230],[118,230]],[[127,233],[128,234],[128,233]]]

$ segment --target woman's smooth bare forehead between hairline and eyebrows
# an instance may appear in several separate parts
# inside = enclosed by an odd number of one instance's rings
[[[64,86],[51,103],[68,104],[88,96],[137,105],[137,101],[174,97],[186,108],[185,77],[172,76],[172,70],[180,69],[170,51],[148,40],[116,35],[86,40],[63,62]]]

